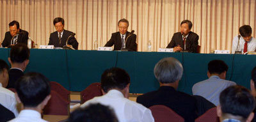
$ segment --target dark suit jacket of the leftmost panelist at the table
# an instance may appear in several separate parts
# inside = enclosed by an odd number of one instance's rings
[[[28,45],[28,32],[20,29],[19,33],[22,34],[18,36],[17,43],[24,43],[25,45]],[[3,47],[8,47],[9,45],[11,45],[12,37],[13,36],[11,35],[10,31],[5,33],[4,40],[2,43]]]

